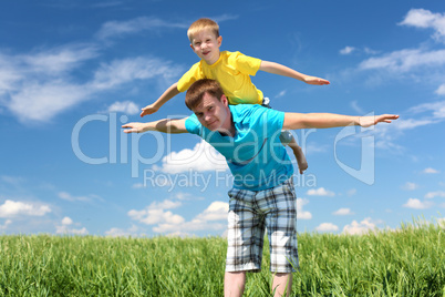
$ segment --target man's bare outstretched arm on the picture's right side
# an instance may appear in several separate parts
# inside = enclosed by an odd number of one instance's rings
[[[337,126],[372,126],[377,123],[391,123],[393,120],[397,120],[396,114],[382,114],[374,116],[352,116],[334,113],[284,113],[284,123],[282,127],[284,130],[294,129],[324,129]]]

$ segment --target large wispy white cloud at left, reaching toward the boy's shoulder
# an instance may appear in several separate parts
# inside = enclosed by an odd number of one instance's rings
[[[136,57],[102,63],[90,81],[75,80],[73,72],[99,55],[96,45],[81,43],[29,54],[0,52],[0,105],[23,123],[49,122],[100,92],[135,80],[170,81],[183,72],[168,61]]]

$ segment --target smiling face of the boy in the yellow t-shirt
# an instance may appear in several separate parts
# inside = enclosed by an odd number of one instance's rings
[[[222,37],[217,38],[211,30],[207,29],[193,35],[190,47],[200,59],[211,65],[219,59],[221,42]]]

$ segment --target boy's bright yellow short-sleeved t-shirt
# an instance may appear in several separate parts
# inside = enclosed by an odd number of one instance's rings
[[[178,81],[177,89],[185,92],[197,80],[219,82],[230,104],[261,104],[262,92],[250,80],[257,74],[261,60],[240,52],[220,52],[219,59],[209,65],[206,61],[194,64]]]

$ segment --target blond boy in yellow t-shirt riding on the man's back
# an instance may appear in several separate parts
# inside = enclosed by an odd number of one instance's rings
[[[187,91],[195,81],[200,79],[217,80],[227,95],[229,104],[263,104],[268,107],[269,100],[263,98],[262,92],[250,80],[250,75],[255,75],[258,70],[293,78],[309,84],[329,84],[327,80],[299,73],[278,63],[261,61],[239,52],[220,52],[222,37],[219,35],[218,24],[210,19],[204,18],[195,21],[188,28],[187,35],[190,40],[190,48],[201,59],[200,62],[194,64],[155,103],[142,109],[141,116],[155,113],[164,103],[178,93]],[[300,174],[302,174],[308,168],[308,163],[301,147],[288,131],[283,131],[280,139],[284,145],[292,148]]]

